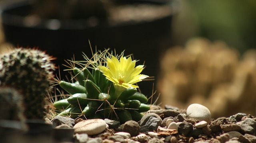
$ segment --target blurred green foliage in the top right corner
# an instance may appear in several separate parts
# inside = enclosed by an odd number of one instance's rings
[[[256,48],[256,0],[181,0],[174,17],[173,43],[191,37],[222,40],[240,52]]]

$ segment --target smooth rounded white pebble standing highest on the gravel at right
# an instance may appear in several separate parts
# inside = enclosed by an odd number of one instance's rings
[[[191,104],[188,106],[186,114],[188,118],[206,121],[207,123],[210,123],[211,120],[210,110],[201,104]]]

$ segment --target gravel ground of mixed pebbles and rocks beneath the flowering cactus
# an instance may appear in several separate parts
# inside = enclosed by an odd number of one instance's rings
[[[64,130],[57,143],[256,143],[255,116],[238,113],[211,119],[209,110],[200,104],[187,110],[166,108],[149,110],[139,123],[127,121],[122,125],[110,119],[63,116],[46,121],[55,130]],[[71,135],[65,134],[70,130]]]

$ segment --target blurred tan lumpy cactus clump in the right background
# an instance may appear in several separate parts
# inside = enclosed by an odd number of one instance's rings
[[[192,103],[209,107],[212,117],[237,112],[256,113],[256,51],[242,56],[221,41],[190,39],[172,47],[161,63],[158,90],[162,106],[186,108]]]

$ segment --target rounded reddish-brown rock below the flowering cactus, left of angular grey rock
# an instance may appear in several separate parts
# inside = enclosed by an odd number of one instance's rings
[[[136,121],[126,121],[124,123],[123,131],[130,133],[132,137],[140,133],[140,125]]]

